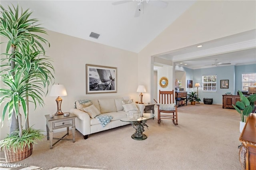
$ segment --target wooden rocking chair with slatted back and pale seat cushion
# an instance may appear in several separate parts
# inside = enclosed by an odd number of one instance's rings
[[[174,91],[160,91],[159,90],[159,101],[158,101],[158,121],[161,119],[172,119],[174,125],[178,125],[178,112],[175,103]]]

